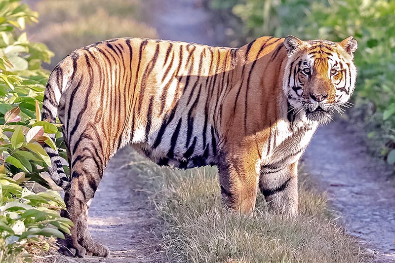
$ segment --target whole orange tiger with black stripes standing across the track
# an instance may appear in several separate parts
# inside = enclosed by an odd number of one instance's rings
[[[106,165],[130,145],[158,165],[218,167],[230,211],[296,216],[298,160],[316,128],[348,106],[356,39],[262,37],[239,48],[115,38],[79,48],[49,76],[42,119],[59,118],[70,175],[48,145],[48,172],[74,226],[69,256],[107,257],[87,225]]]

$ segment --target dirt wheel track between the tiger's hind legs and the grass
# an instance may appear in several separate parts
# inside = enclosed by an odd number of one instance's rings
[[[147,194],[144,180],[131,170],[129,147],[110,161],[89,209],[93,239],[108,246],[109,258],[67,258],[79,263],[159,263],[160,225]],[[159,237],[158,237],[158,235]],[[61,260],[59,260],[61,261]]]

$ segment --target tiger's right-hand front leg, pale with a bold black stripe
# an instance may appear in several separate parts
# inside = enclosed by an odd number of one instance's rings
[[[259,188],[270,211],[294,216],[298,211],[298,162],[280,167],[263,166]]]

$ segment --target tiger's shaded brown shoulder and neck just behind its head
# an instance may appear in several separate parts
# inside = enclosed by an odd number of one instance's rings
[[[214,118],[221,119],[223,141],[254,144],[258,149],[267,148],[269,142],[273,151],[294,134],[303,137],[299,131],[312,134],[316,129],[303,113],[289,111],[283,89],[288,57],[282,42],[283,38],[258,38],[237,50],[232,86],[221,101],[226,114]]]

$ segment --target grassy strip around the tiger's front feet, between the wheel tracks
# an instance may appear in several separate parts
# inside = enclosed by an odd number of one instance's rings
[[[141,160],[141,157],[134,157]],[[259,195],[253,216],[226,211],[215,167],[187,171],[138,162],[164,222],[168,262],[368,262],[357,240],[331,217],[325,195],[300,174],[299,216],[268,213]]]

